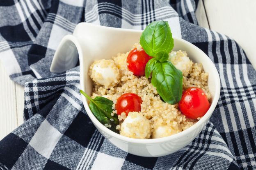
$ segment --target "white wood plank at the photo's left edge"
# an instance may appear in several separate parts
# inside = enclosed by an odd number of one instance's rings
[[[18,126],[15,83],[0,61],[0,140]]]

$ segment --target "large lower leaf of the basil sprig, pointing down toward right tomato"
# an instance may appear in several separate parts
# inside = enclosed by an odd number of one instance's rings
[[[151,83],[165,102],[173,105],[181,100],[182,79],[182,72],[169,61],[155,63]]]

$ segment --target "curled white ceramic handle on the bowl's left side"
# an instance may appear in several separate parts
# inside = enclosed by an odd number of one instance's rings
[[[78,48],[80,45],[74,36],[64,36],[53,56],[50,72],[62,73],[75,67],[78,62]]]

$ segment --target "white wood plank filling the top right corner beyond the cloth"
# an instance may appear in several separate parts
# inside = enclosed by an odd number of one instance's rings
[[[256,1],[204,0],[210,29],[238,42],[256,69]]]

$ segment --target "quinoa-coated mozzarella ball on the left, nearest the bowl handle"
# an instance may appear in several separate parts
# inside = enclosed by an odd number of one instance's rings
[[[121,78],[114,60],[105,59],[96,60],[90,66],[89,75],[93,81],[105,87],[116,85]]]

